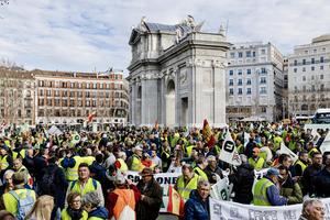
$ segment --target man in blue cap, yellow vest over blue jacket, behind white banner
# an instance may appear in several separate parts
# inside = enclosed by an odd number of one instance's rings
[[[253,205],[255,206],[284,206],[287,199],[279,196],[277,188],[279,172],[277,168],[270,168],[265,177],[256,182],[253,188]]]

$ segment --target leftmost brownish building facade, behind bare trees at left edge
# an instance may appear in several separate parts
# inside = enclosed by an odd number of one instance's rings
[[[22,68],[0,67],[0,123],[34,124],[34,78]]]

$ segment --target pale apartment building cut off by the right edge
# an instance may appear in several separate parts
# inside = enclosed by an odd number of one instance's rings
[[[290,116],[311,116],[330,107],[330,34],[298,45],[288,56]]]

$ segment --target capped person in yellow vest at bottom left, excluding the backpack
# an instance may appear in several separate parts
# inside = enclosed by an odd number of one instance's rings
[[[4,204],[6,210],[16,217],[19,213],[18,201],[20,199],[25,199],[26,197],[29,197],[29,199],[28,198],[26,199],[32,202],[32,204],[30,204],[30,206],[32,207],[36,200],[36,196],[35,196],[34,190],[26,189],[24,187],[24,183],[25,183],[25,174],[24,173],[22,173],[22,172],[14,173],[12,175],[12,183],[14,185],[14,189],[7,194],[3,194],[2,198],[3,198],[3,204]],[[28,215],[28,213],[25,213],[25,215]]]

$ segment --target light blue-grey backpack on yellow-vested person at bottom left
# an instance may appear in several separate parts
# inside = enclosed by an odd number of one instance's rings
[[[24,220],[25,216],[30,212],[35,202],[31,190],[26,189],[26,197],[24,199],[20,198],[14,190],[9,191],[9,194],[11,194],[18,201],[16,219]]]

